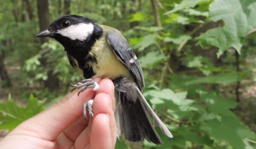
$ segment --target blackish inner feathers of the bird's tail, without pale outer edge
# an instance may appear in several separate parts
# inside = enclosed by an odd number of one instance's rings
[[[119,92],[120,106],[122,106],[122,123],[125,139],[138,142],[147,139],[156,144],[162,141],[152,125],[143,105],[137,100],[129,101],[125,92]]]

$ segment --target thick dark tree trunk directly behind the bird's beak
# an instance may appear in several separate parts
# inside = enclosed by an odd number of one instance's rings
[[[50,24],[50,14],[49,14],[49,4],[48,0],[37,0],[38,6],[38,18],[39,18],[39,26],[40,30],[47,29]],[[48,37],[40,38],[41,44],[48,42]],[[47,66],[46,58],[41,59],[42,66]],[[53,70],[49,70],[47,72],[48,79],[44,81],[44,87],[49,90],[58,89],[58,78],[56,75],[52,74]]]

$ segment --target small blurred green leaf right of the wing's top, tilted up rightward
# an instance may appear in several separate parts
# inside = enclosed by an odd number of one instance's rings
[[[157,34],[148,34],[144,36],[139,43],[135,44],[134,48],[139,49],[139,51],[143,51],[148,46],[155,44],[156,39],[157,39]]]

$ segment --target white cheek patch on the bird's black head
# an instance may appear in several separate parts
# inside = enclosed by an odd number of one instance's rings
[[[57,33],[72,40],[86,40],[93,33],[93,24],[79,23],[71,25],[65,29],[59,30]]]

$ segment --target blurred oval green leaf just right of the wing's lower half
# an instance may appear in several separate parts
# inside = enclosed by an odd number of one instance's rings
[[[141,67],[154,66],[162,62],[166,58],[165,55],[160,52],[148,52],[144,57],[140,58]]]

